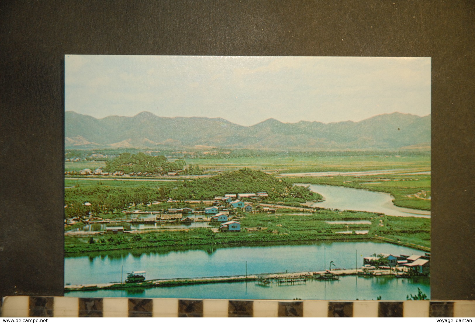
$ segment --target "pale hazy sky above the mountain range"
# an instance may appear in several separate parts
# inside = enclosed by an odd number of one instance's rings
[[[250,126],[430,113],[428,57],[66,55],[66,111]]]

